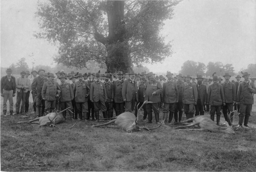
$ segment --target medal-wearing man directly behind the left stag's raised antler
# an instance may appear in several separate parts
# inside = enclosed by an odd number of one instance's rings
[[[60,76],[60,106],[61,106],[61,110],[66,109],[67,107],[70,107],[69,110],[69,116],[66,117],[66,111],[62,112],[62,115],[65,119],[70,119],[73,120],[73,114],[74,114],[74,110],[73,110],[73,106],[72,106],[72,100],[74,99],[74,90],[72,89],[72,86],[70,83],[66,82],[66,77],[64,75]]]

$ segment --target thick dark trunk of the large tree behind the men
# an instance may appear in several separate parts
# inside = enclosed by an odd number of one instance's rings
[[[125,39],[125,23],[123,23],[124,6],[125,1],[107,1],[109,36],[105,45],[108,51],[105,63],[107,71],[112,73],[127,72],[131,69],[129,44]]]

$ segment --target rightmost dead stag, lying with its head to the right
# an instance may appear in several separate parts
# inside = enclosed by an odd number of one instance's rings
[[[233,126],[235,126],[235,125],[232,124],[229,115],[228,115],[228,118],[229,118],[229,121],[231,123],[231,126],[229,126],[228,122],[225,121],[225,123],[227,125],[225,127],[225,126],[216,125],[216,123],[214,121],[212,121],[210,118],[208,118],[204,115],[199,115],[199,116],[195,116],[193,118],[189,118],[185,121],[175,123],[175,124],[180,124],[180,123],[184,123],[184,122],[193,122],[192,124],[189,124],[189,125],[186,125],[186,126],[175,127],[175,129],[181,129],[181,128],[185,128],[185,127],[195,126],[196,128],[187,129],[187,131],[197,130],[197,131],[210,131],[210,132],[221,132],[221,133],[228,133],[228,134],[236,134],[234,131],[237,131],[237,130],[233,130]]]

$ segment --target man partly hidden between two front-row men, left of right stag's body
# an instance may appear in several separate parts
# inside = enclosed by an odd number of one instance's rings
[[[179,111],[179,122],[181,122],[183,115],[183,103],[182,103],[182,88],[184,86],[183,75],[179,73],[177,76],[177,88],[179,92],[179,97],[177,97],[178,102],[176,102],[175,111],[174,111],[174,120],[178,120],[178,111]]]

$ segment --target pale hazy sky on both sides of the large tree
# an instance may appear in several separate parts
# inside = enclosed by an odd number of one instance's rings
[[[36,39],[39,31],[37,1],[1,0],[1,67],[25,57],[32,68],[55,66],[52,57],[57,47]],[[254,0],[184,0],[174,8],[171,20],[161,31],[166,41],[172,41],[171,57],[157,64],[145,64],[153,72],[179,72],[187,60],[233,64],[235,72],[256,63],[256,1]]]

